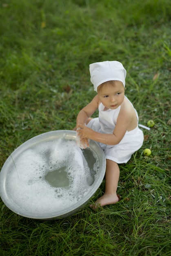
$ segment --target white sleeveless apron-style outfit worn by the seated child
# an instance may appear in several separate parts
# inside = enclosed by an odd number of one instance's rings
[[[125,98],[129,101],[129,99],[125,96]],[[129,101],[131,103],[131,101]],[[133,106],[133,104],[131,103]],[[99,105],[99,117],[91,119],[87,124],[87,127],[95,130],[96,132],[101,133],[113,133],[113,130],[116,125],[116,121],[120,112],[120,106],[117,109],[108,109],[104,110],[104,105],[100,103]],[[135,110],[135,108],[134,108]],[[138,114],[135,110],[135,114],[138,120]],[[142,130],[137,126],[135,129],[131,131],[127,131],[117,145],[106,145],[102,143],[100,146],[104,150],[104,154],[106,159],[113,160],[114,162],[121,164],[127,163],[131,158],[131,155],[135,153],[143,144],[144,136]]]

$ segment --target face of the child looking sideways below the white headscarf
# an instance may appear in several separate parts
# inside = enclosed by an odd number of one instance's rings
[[[120,81],[106,83],[100,88],[98,96],[106,108],[116,109],[124,101],[124,85]]]

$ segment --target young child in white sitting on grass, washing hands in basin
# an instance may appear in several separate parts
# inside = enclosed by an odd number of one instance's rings
[[[105,193],[91,206],[93,208],[118,202],[118,164],[127,163],[144,140],[138,128],[137,111],[124,96],[126,74],[118,61],[90,64],[90,80],[97,95],[78,113],[75,129],[84,148],[89,146],[89,139],[93,139],[106,156]],[[97,109],[99,117],[92,119]]]

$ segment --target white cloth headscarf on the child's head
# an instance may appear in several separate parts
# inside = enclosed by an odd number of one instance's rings
[[[102,61],[90,64],[90,81],[97,92],[98,86],[104,82],[117,80],[125,87],[127,71],[119,61]]]

